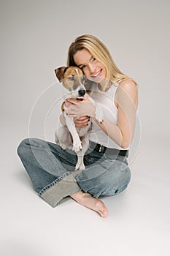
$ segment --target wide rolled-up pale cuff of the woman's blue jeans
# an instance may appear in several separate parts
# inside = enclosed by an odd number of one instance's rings
[[[79,192],[80,190],[74,176],[67,172],[47,185],[47,187],[43,188],[39,192],[39,196],[54,208],[58,204],[69,200],[69,195]]]

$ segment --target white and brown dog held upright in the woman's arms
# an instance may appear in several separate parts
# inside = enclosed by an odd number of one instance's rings
[[[69,94],[65,96],[65,99],[75,98],[81,99],[82,97],[88,97],[91,102],[95,105],[94,100],[87,94],[85,89],[85,75],[82,69],[79,67],[59,67],[55,69],[55,75],[59,82],[62,82],[65,89],[69,91]],[[61,109],[66,109],[63,104]],[[76,128],[74,124],[74,118],[66,115],[66,126],[61,126],[57,131],[55,131],[55,143],[61,146],[63,150],[66,148],[72,148],[72,150],[77,154],[77,165],[75,170],[85,170],[84,165],[84,155],[89,146],[89,132],[91,129],[91,121],[88,122],[87,127]],[[101,122],[101,118],[98,118]]]

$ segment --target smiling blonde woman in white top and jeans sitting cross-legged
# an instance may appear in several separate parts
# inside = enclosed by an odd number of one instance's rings
[[[34,189],[51,206],[72,197],[107,217],[108,210],[98,197],[122,192],[131,179],[127,157],[134,136],[138,89],[135,81],[116,67],[106,46],[91,35],[77,37],[70,45],[67,64],[82,69],[103,115],[98,123],[96,108],[87,98],[65,102],[66,113],[74,117],[76,127],[85,127],[89,117],[93,122],[84,157],[86,169],[75,172],[76,154],[44,140],[23,140],[18,154]],[[64,125],[63,114],[60,119]]]

